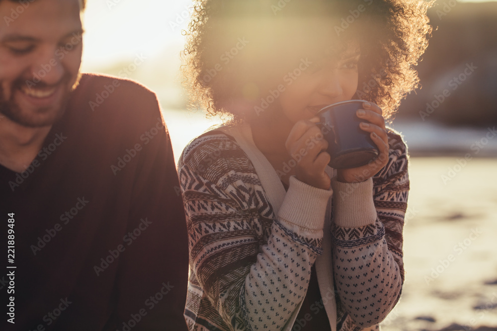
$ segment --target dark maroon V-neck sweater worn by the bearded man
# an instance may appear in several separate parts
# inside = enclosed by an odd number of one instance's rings
[[[186,330],[186,223],[163,123],[143,86],[84,74],[26,172],[0,165],[0,330]]]

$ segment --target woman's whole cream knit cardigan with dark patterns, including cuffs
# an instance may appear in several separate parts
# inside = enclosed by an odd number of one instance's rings
[[[192,141],[178,169],[190,239],[190,330],[291,330],[313,263],[331,330],[376,330],[403,281],[407,156],[400,136],[389,138],[392,159],[375,188],[373,179],[337,182],[328,168],[329,191],[291,177],[288,192],[248,126]],[[374,198],[397,204],[375,206]],[[397,231],[391,250],[377,211]]]

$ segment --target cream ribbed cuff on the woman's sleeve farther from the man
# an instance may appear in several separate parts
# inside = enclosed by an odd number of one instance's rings
[[[373,179],[360,183],[338,182],[331,178],[334,223],[343,227],[359,227],[376,221],[373,202]]]

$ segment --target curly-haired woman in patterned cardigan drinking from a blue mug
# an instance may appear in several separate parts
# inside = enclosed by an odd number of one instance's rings
[[[229,121],[178,165],[190,330],[377,330],[393,309],[409,178],[406,145],[385,119],[417,84],[426,7],[196,2],[190,92]],[[380,154],[332,169],[316,114],[357,98],[369,101],[357,116]]]

